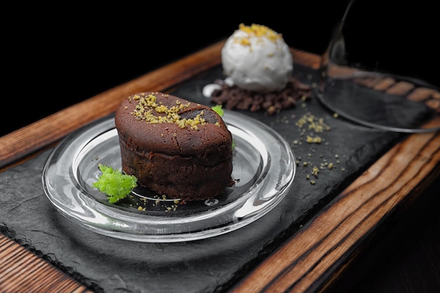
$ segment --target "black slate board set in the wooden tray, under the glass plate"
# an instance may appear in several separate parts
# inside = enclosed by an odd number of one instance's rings
[[[221,67],[215,67],[172,93],[209,105],[202,88],[221,77]],[[295,77],[318,83],[318,72],[301,65],[295,64]],[[93,233],[65,219],[44,195],[41,174],[51,152],[47,150],[0,174],[0,230],[96,292],[225,292],[401,138],[335,118],[315,97],[275,116],[240,112],[273,127],[299,159],[285,199],[244,228],[177,243],[131,242]],[[323,143],[305,142],[309,131],[302,134],[296,122],[306,113],[330,126],[318,134]],[[311,175],[313,166],[325,162],[335,167],[321,169],[318,178]]]

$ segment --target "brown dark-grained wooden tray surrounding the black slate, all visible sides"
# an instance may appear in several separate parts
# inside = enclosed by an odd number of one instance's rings
[[[219,65],[221,46],[223,41],[1,137],[0,171],[22,164],[53,147],[75,129],[114,112],[120,97],[145,91],[145,84],[149,85],[148,90],[167,91]],[[297,63],[318,68],[320,56],[295,49],[292,52]],[[363,252],[365,240],[389,217],[418,200],[422,191],[438,178],[439,161],[439,133],[407,136],[231,292],[325,291]],[[90,292],[37,253],[0,233],[0,291],[23,289],[27,292]]]

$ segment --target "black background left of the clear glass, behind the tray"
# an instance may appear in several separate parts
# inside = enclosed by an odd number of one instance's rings
[[[266,25],[290,46],[322,53],[346,2],[18,7],[4,42],[4,71],[6,100],[20,114],[12,122],[1,115],[1,134],[225,39],[241,22]]]

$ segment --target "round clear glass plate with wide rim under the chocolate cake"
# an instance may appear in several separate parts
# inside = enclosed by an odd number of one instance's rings
[[[135,188],[110,204],[92,187],[98,164],[121,169],[114,115],[79,129],[49,155],[42,175],[48,200],[68,219],[96,233],[139,242],[199,240],[237,230],[283,200],[296,172],[295,155],[276,131],[256,119],[225,110],[233,135],[235,185],[212,200],[167,200]]]

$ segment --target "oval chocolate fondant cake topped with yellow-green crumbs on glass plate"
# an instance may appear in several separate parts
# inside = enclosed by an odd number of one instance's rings
[[[234,181],[232,135],[205,105],[159,92],[137,93],[115,113],[122,170],[160,195],[205,200]]]

